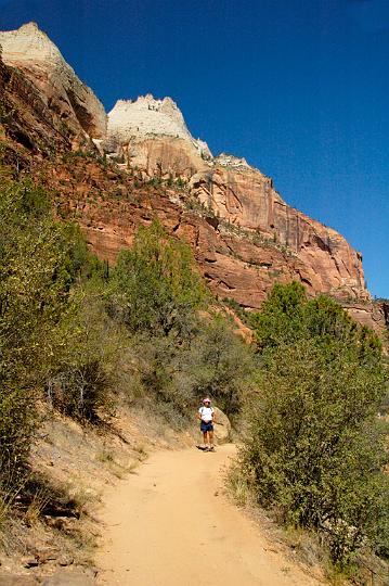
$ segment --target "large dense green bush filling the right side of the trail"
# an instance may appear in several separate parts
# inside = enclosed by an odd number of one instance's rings
[[[258,501],[320,528],[347,562],[368,543],[388,552],[388,454],[377,412],[380,343],[330,300],[277,285],[255,317],[262,369],[241,467]]]

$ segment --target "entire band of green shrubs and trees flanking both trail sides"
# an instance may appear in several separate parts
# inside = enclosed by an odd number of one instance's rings
[[[4,173],[0,189],[1,498],[20,485],[53,410],[107,424],[121,400],[183,429],[210,394],[246,429],[238,474],[259,505],[327,535],[340,564],[367,546],[388,558],[377,418],[388,377],[373,332],[291,283],[245,313],[249,346],[190,247],[158,222],[108,267],[75,225],[53,217],[41,188]]]

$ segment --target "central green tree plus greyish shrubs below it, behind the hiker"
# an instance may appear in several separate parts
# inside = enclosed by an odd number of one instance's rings
[[[234,415],[252,370],[251,348],[218,313],[207,314],[206,290],[189,245],[158,222],[140,228],[122,251],[105,292],[109,316],[126,328],[126,398],[148,402],[182,426],[210,394]],[[202,317],[203,315],[203,317]]]

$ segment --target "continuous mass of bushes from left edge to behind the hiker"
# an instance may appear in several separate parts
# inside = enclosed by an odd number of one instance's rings
[[[100,424],[121,397],[183,426],[212,393],[236,411],[251,353],[200,317],[210,295],[186,244],[155,222],[109,271],[29,179],[7,178],[0,214],[0,485],[20,482],[50,409]]]

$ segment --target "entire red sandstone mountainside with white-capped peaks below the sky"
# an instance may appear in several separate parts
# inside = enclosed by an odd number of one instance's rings
[[[0,43],[3,127],[26,149],[30,173],[55,193],[59,213],[79,221],[101,257],[114,262],[139,224],[158,217],[190,242],[221,298],[258,308],[274,282],[297,279],[385,328],[361,255],[288,206],[244,158],[213,157],[171,99],[120,100],[106,127],[102,104],[35,24],[0,33]]]

